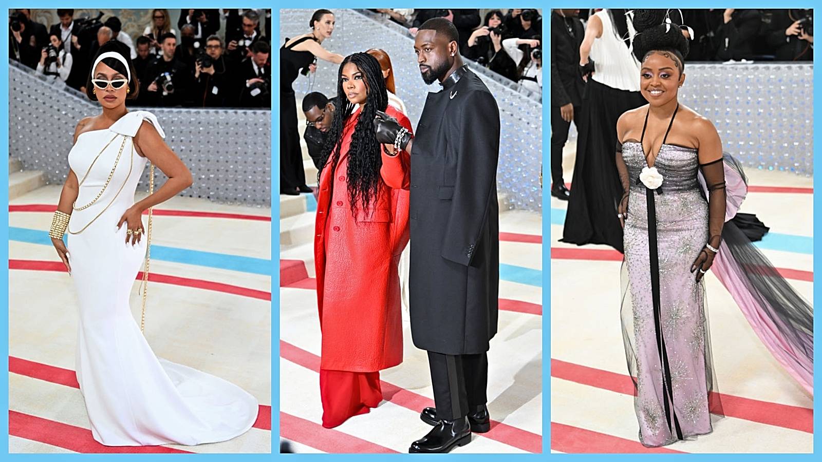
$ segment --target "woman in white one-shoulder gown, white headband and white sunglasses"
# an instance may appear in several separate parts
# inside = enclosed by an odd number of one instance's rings
[[[157,358],[129,308],[147,261],[142,212],[192,184],[154,114],[127,111],[126,99],[138,87],[127,47],[113,40],[100,47],[86,93],[103,112],[75,129],[71,170],[49,232],[80,303],[77,381],[92,436],[106,446],[226,441],[252,427],[256,399],[228,381]],[[169,179],[135,203],[147,162]]]

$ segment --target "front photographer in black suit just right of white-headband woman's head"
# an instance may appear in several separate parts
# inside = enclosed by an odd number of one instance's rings
[[[163,50],[162,56],[145,69],[145,78],[140,82],[140,90],[145,91],[145,104],[159,107],[180,106],[187,102],[187,89],[192,87],[192,72],[177,58],[177,37],[172,33],[158,40]]]

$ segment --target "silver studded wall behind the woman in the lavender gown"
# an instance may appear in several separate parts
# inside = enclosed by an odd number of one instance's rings
[[[713,122],[742,165],[814,174],[812,64],[686,62],[685,75],[681,103]]]

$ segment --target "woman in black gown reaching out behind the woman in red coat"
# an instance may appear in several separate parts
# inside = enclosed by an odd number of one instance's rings
[[[312,192],[306,185],[302,150],[297,127],[297,99],[291,86],[302,73],[313,72],[316,58],[339,64],[343,56],[322,48],[322,41],[334,31],[334,13],[317,10],[311,17],[312,31],[285,39],[279,49],[279,193],[297,196]]]

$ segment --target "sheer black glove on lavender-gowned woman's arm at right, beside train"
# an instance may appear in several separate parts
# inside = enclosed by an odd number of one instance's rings
[[[708,187],[708,243],[696,257],[690,272],[696,271],[696,280],[713,265],[713,257],[722,244],[722,230],[725,226],[725,164],[723,159],[717,159],[708,164],[700,164],[705,177],[705,186]]]

